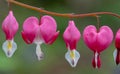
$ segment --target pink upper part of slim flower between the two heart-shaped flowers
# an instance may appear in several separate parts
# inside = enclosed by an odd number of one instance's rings
[[[69,21],[69,25],[63,34],[67,48],[70,48],[70,50],[76,49],[76,45],[80,39],[80,36],[81,34],[75,26],[74,21]]]

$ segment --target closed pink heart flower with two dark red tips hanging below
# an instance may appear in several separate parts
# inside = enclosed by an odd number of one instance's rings
[[[89,25],[84,29],[83,38],[85,44],[94,52],[92,65],[100,68],[100,52],[105,50],[113,40],[113,32],[108,26],[102,26],[97,30],[95,26]]]

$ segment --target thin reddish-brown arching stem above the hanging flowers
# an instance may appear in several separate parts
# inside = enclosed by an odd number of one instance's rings
[[[38,11],[40,13],[53,15],[53,16],[61,16],[61,17],[68,17],[68,18],[80,18],[80,17],[89,17],[89,16],[93,17],[93,16],[96,16],[96,15],[107,14],[107,15],[112,15],[112,16],[120,18],[120,15],[118,15],[116,13],[112,13],[112,12],[94,12],[94,13],[86,13],[86,14],[73,14],[73,13],[65,13],[65,14],[63,13],[62,14],[62,13],[47,11],[47,10],[44,10],[42,8],[27,5],[27,4],[24,4],[24,3],[21,3],[21,2],[15,1],[15,0],[7,0],[7,2],[22,6],[24,8],[35,10],[35,11]]]

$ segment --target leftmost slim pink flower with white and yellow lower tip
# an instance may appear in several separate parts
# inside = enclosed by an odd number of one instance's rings
[[[13,12],[9,11],[9,14],[2,23],[2,30],[6,35],[6,41],[3,43],[2,48],[7,57],[11,57],[17,49],[17,44],[14,42],[14,36],[18,31],[18,27],[19,25]]]

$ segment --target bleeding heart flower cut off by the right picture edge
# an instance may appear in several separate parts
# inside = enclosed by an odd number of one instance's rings
[[[113,53],[116,64],[120,63],[120,29],[117,31],[115,36],[115,51]]]

